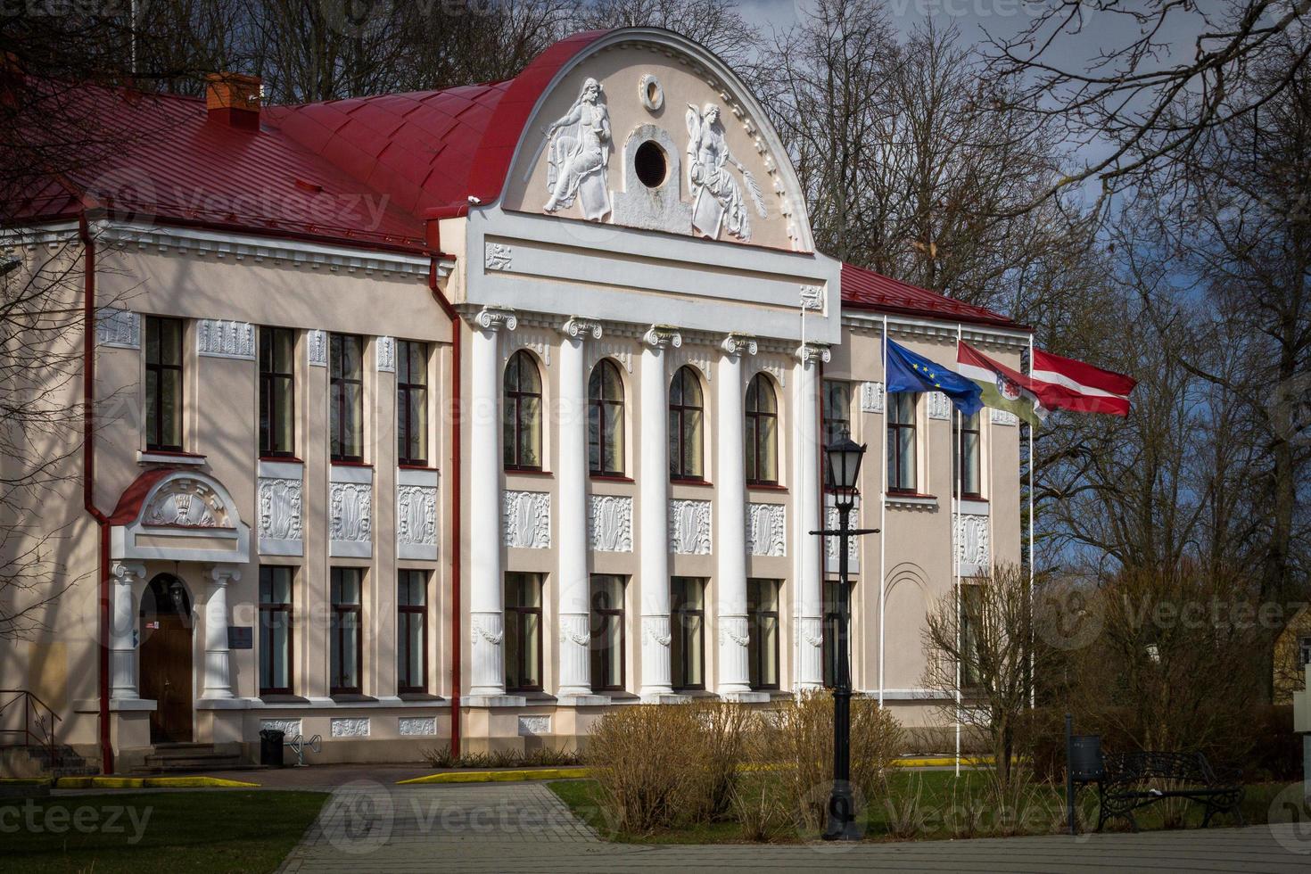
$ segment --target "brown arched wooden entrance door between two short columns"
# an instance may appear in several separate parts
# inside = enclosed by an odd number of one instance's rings
[[[142,697],[156,701],[151,743],[190,742],[191,629],[168,613],[142,625]]]

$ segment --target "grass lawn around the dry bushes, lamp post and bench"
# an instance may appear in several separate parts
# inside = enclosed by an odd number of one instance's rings
[[[749,777],[753,780],[756,777]],[[759,777],[770,780],[770,777]],[[1063,823],[1065,786],[1034,785],[1028,790],[1023,811],[999,811],[992,803],[986,772],[897,770],[888,778],[888,794],[869,799],[867,840],[945,840],[998,835],[1041,835],[1059,831]],[[568,780],[548,784],[570,810],[608,840],[656,844],[721,844],[742,843],[747,837],[732,819],[688,824],[652,835],[616,833],[606,819],[595,780]],[[756,784],[759,786],[759,784]],[[1265,823],[1274,797],[1285,784],[1249,784],[1243,799],[1243,816],[1248,826]],[[1097,822],[1096,789],[1079,793],[1080,822],[1092,828]],[[1168,799],[1139,810],[1138,827],[1196,828],[1201,824],[1201,805]],[[973,826],[970,824],[973,823]],[[1213,826],[1236,826],[1232,816],[1218,815]],[[1127,824],[1116,820],[1106,827],[1125,831]],[[773,840],[784,843],[815,840],[818,835],[797,827],[784,815]]]

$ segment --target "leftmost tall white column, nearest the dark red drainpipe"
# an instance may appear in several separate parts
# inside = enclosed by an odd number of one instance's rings
[[[469,634],[473,670],[468,694],[505,694],[505,598],[501,574],[501,326],[514,330],[507,309],[485,308],[473,318],[469,440]]]

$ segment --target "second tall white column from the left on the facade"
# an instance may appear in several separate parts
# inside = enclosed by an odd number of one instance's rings
[[[587,371],[583,339],[600,339],[600,325],[570,318],[560,343],[560,689],[591,694],[591,628],[587,584]]]

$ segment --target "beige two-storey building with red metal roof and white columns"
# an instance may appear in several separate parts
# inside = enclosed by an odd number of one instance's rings
[[[71,587],[0,643],[60,743],[123,770],[277,727],[414,760],[818,688],[836,548],[808,532],[843,428],[886,532],[851,556],[855,685],[933,719],[924,612],[953,529],[966,577],[1020,560],[1020,428],[885,397],[881,337],[1019,367],[1030,335],[815,252],[713,55],[625,29],[446,92],[87,101],[142,134],[8,231],[28,271],[88,266],[94,314],[59,390],[96,427],[31,508]]]

